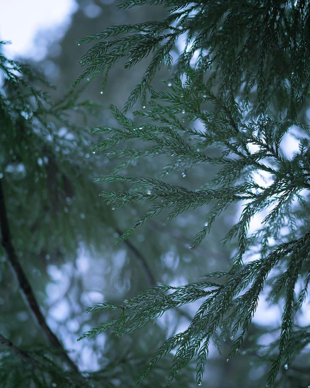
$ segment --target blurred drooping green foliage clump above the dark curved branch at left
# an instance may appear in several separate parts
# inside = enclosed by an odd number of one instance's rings
[[[87,166],[84,163],[91,147],[84,126],[86,117],[98,112],[98,104],[81,100],[83,89],[55,101],[52,86],[38,72],[3,54],[0,74],[0,176],[10,198],[9,212],[19,215],[10,219],[11,229],[24,237],[15,240],[15,248],[24,255],[29,251],[43,257],[59,254],[60,247],[72,253],[76,234],[83,235],[85,243],[93,242],[84,229],[88,218],[83,225],[81,217],[87,210],[83,196],[88,201],[96,196],[80,193],[84,192],[81,177],[96,163],[94,158]],[[96,210],[90,209],[91,213]]]

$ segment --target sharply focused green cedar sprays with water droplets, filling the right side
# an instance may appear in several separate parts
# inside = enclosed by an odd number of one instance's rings
[[[206,274],[184,286],[157,285],[121,304],[89,307],[88,312],[119,310],[120,315],[82,338],[107,329],[123,336],[171,308],[202,300],[188,328],[162,344],[136,381],[146,379],[158,360],[173,350],[166,387],[193,358],[196,383],[202,385],[210,342],[220,350],[229,333],[227,362],[235,356],[267,284],[269,300],[282,301],[284,307],[277,338],[262,355],[270,370],[266,386],[282,386],[286,375],[277,378],[279,371],[288,369],[310,342],[309,326],[299,327],[294,321],[310,282],[309,126],[300,120],[309,97],[310,2],[127,0],[119,7],[145,4],[163,5],[167,16],[163,21],[115,25],[81,39],[78,44],[94,44],[81,57],[85,69],[72,83],[75,87],[84,78],[99,77],[103,90],[118,61],[125,59],[129,69],[150,59],[123,111],[110,106],[119,126],[91,128],[102,135],[94,150],[120,159],[111,175],[95,181],[124,185],[100,195],[115,211],[132,201],[150,204],[117,241],[161,213],[170,221],[183,211],[210,204],[205,224],[192,236],[189,248],[195,249],[220,213],[239,203],[240,219],[222,240],[236,249],[227,272]],[[173,60],[181,37],[185,49]],[[151,83],[160,69],[171,70],[171,75],[167,87],[157,91]],[[138,100],[143,107],[132,116],[129,111]],[[291,159],[282,146],[288,133],[299,141]],[[132,139],[140,140],[144,149],[133,149]],[[129,142],[127,147],[124,142]],[[211,147],[220,150],[219,156],[208,156]],[[142,158],[169,162],[155,177],[141,177],[141,171],[136,177],[121,174]],[[210,179],[209,163],[219,168]],[[202,187],[193,191],[169,184],[169,174],[176,172],[181,180],[197,165],[206,169]],[[258,183],[258,176],[265,182]],[[263,222],[248,233],[258,213],[264,215]]]

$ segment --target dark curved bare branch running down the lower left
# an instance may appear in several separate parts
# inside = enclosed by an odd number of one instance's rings
[[[21,291],[21,294],[24,297],[24,300],[26,301],[30,311],[34,315],[34,318],[38,323],[38,326],[40,327],[41,331],[43,332],[47,340],[50,342],[50,344],[60,350],[60,354],[62,355],[62,358],[64,359],[65,363],[68,365],[70,370],[76,373],[79,373],[77,366],[67,355],[61,343],[59,342],[59,339],[48,327],[45,321],[45,317],[41,313],[38,302],[36,301],[31,285],[15,253],[15,249],[12,244],[12,239],[10,234],[7,211],[5,207],[5,199],[4,199],[4,193],[2,188],[2,179],[0,179],[0,227],[1,227],[1,235],[2,235],[2,246],[7,254],[7,259],[10,263],[10,267],[17,278],[17,282],[19,284],[19,290]]]

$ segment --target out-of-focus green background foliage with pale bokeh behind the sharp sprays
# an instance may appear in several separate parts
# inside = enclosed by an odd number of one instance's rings
[[[48,325],[69,350],[71,359],[81,371],[90,372],[94,386],[98,387],[132,386],[165,338],[187,327],[197,304],[167,312],[154,325],[121,339],[105,333],[93,340],[77,342],[84,331],[113,318],[113,312],[86,314],[85,307],[98,301],[117,303],[156,282],[177,286],[197,281],[207,272],[226,270],[233,247],[222,248],[220,240],[238,213],[238,209],[232,208],[230,214],[221,217],[196,251],[191,251],[189,245],[196,225],[205,222],[207,206],[203,211],[184,212],[172,222],[158,217],[129,241],[114,244],[115,238],[132,225],[143,208],[132,203],[129,211],[128,207],[112,211],[98,196],[101,187],[93,183],[93,178],[110,173],[116,165],[113,159],[92,152],[96,135],[90,135],[88,127],[115,125],[108,105],[113,103],[120,108],[124,105],[148,60],[130,70],[121,64],[115,66],[103,94],[100,81],[74,92],[65,93],[65,89],[81,73],[79,57],[87,47],[77,46],[78,39],[112,24],[160,20],[164,15],[159,5],[123,10],[117,9],[116,3],[77,1],[78,8],[65,35],[60,40],[48,41],[47,56],[40,62],[28,59],[56,86],[53,89],[38,82],[36,74],[28,77],[34,87],[51,95],[47,98],[52,102],[42,102],[35,111],[33,97],[25,103],[26,90],[14,90],[4,83],[2,90],[7,103],[0,106],[0,177],[15,251]],[[44,34],[49,32],[40,31],[37,39],[44,39]],[[167,75],[162,70],[154,84],[167,88]],[[217,152],[210,150],[211,155]],[[153,171],[158,169],[156,159],[152,162],[145,158],[128,166],[126,175],[154,176]],[[189,188],[196,189],[205,182],[206,174],[211,173],[196,166],[186,177],[175,173],[169,182],[186,182]],[[0,309],[0,333],[12,343],[25,350],[48,348],[21,298],[3,251]],[[203,386],[245,387],[248,381],[253,387],[263,386],[267,371],[259,365],[253,349],[272,340],[272,332],[268,331],[277,326],[281,312],[277,310],[274,314],[278,316],[265,325],[262,318],[256,323],[254,320],[243,353],[232,362],[225,362],[229,345],[223,347],[220,357],[215,349],[210,352]],[[229,338],[226,341],[229,343]],[[169,364],[169,360],[158,364],[142,385],[165,386]],[[298,369],[290,368],[289,373],[296,382],[294,386],[303,386],[296,378]],[[175,386],[195,386],[193,376],[191,368],[180,372]],[[52,384],[56,386],[56,380]],[[0,386],[4,385],[0,382]]]

